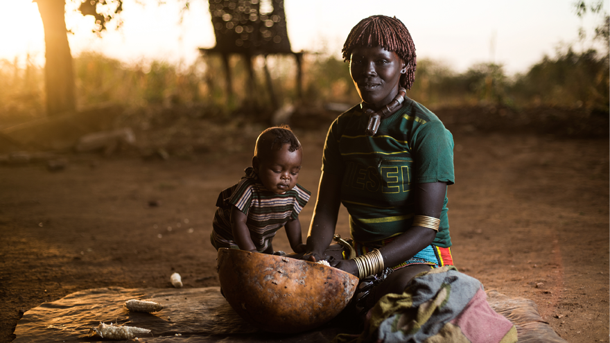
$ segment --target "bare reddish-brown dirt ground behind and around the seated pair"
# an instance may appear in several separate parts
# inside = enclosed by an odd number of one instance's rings
[[[568,342],[608,342],[607,137],[482,132],[446,121],[455,141],[448,189],[455,265],[487,290],[534,300]],[[299,183],[312,199],[327,125],[295,128],[304,146]],[[263,128],[245,127],[218,150],[166,160],[68,154],[55,172],[1,165],[0,341],[15,338],[25,311],[78,290],[168,288],[173,272],[187,288],[218,285],[211,218]],[[301,215],[304,237],[313,203]],[[338,233],[349,235],[344,210]],[[281,232],[274,246],[290,250]]]

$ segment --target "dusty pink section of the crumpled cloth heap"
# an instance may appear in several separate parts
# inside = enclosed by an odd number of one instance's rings
[[[464,336],[473,343],[500,342],[513,326],[489,306],[487,294],[482,288],[470,299],[462,313],[451,320],[451,324],[460,327]]]

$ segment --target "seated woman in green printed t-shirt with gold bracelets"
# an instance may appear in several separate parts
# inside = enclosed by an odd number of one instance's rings
[[[363,19],[342,53],[363,102],[329,129],[304,258],[330,254],[325,249],[344,204],[358,257],[334,266],[360,279],[393,270],[373,288],[370,305],[402,293],[420,272],[453,265],[446,207],[453,138],[435,114],[405,96],[415,80],[415,46],[399,19]]]

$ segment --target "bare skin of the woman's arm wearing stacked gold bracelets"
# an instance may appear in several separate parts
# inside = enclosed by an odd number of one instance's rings
[[[415,216],[440,218],[447,190],[445,182],[417,184],[415,195]],[[430,245],[437,231],[428,227],[410,227],[404,234],[397,236],[392,243],[379,248],[383,256],[383,265],[393,267],[415,256],[421,249]],[[356,262],[339,261],[335,267],[358,276]]]

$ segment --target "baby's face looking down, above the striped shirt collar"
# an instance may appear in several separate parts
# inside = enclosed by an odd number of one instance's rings
[[[288,151],[290,144],[285,143],[279,148],[266,152],[266,156],[259,157],[258,170],[259,179],[263,186],[276,194],[286,193],[297,184],[299,171],[301,170],[302,149],[293,152]]]

